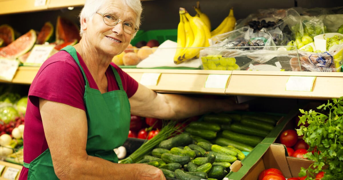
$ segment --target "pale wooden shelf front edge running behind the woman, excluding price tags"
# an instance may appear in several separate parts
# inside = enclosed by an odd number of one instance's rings
[[[31,84],[39,67],[19,67],[13,81],[16,84]],[[161,73],[155,86],[147,86],[157,92],[242,95],[282,97],[299,99],[331,99],[340,97],[343,89],[342,72],[292,72],[292,71],[218,71],[218,70],[173,70],[173,69],[126,69],[140,82],[144,73]],[[205,88],[209,74],[230,75],[226,89]],[[316,76],[312,92],[286,91],[289,76]]]

